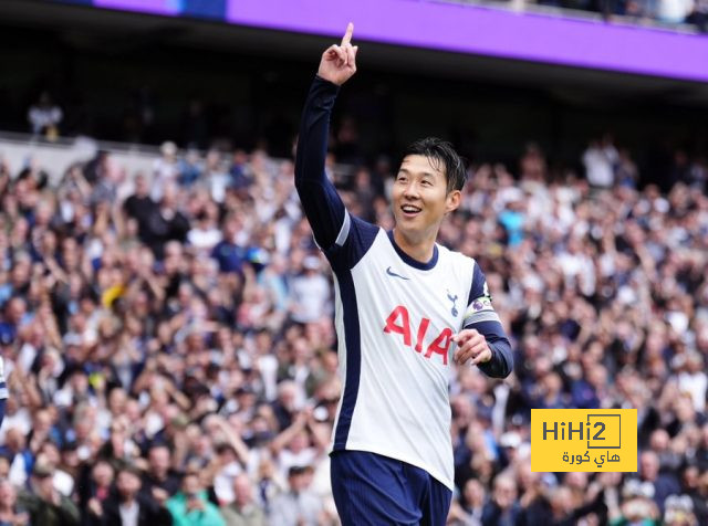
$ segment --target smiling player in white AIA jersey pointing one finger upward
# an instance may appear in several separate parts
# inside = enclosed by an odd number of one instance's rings
[[[322,55],[300,127],[295,187],[334,274],[344,391],[332,436],[332,490],[344,525],[444,525],[454,490],[449,368],[503,378],[509,340],[475,260],[436,243],[466,170],[436,138],[407,149],[391,232],[352,217],[324,171],[339,87],[356,72],[348,24]]]

